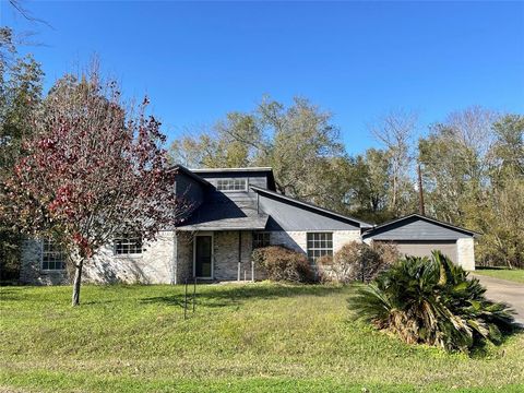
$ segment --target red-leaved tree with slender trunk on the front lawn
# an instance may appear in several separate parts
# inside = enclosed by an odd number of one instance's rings
[[[27,155],[5,181],[0,214],[67,251],[75,270],[73,306],[83,265],[102,246],[122,234],[154,240],[188,209],[175,193],[160,123],[146,107],[147,99],[124,107],[117,84],[103,83],[96,71],[68,75],[34,118]]]

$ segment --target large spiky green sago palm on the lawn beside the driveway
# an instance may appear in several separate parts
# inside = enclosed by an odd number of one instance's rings
[[[349,299],[357,318],[425,343],[468,352],[501,340],[513,327],[511,311],[484,296],[486,289],[440,251],[432,258],[406,257]]]

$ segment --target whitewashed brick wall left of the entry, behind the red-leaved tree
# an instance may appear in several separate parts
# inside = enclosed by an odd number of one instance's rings
[[[175,255],[172,231],[162,231],[153,242],[144,245],[144,251],[135,255],[114,255],[112,247],[104,247],[84,264],[83,282],[109,283],[172,283]],[[26,284],[68,284],[68,271],[41,271],[41,243],[39,240],[24,241],[22,251],[21,282]]]

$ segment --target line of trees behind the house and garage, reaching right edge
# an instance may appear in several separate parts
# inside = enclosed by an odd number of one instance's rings
[[[369,127],[378,147],[357,155],[302,97],[264,97],[193,131],[172,143],[174,162],[271,166],[279,192],[376,224],[419,212],[422,198],[428,216],[481,234],[477,263],[524,267],[522,115],[472,106],[420,130],[415,112],[392,111]]]

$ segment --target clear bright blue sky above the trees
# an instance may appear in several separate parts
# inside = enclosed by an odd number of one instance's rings
[[[350,154],[392,110],[418,112],[420,133],[473,105],[524,114],[524,2],[22,2],[49,27],[0,1],[1,25],[35,33],[20,49],[46,88],[96,55],[169,140],[264,95],[333,112]]]

